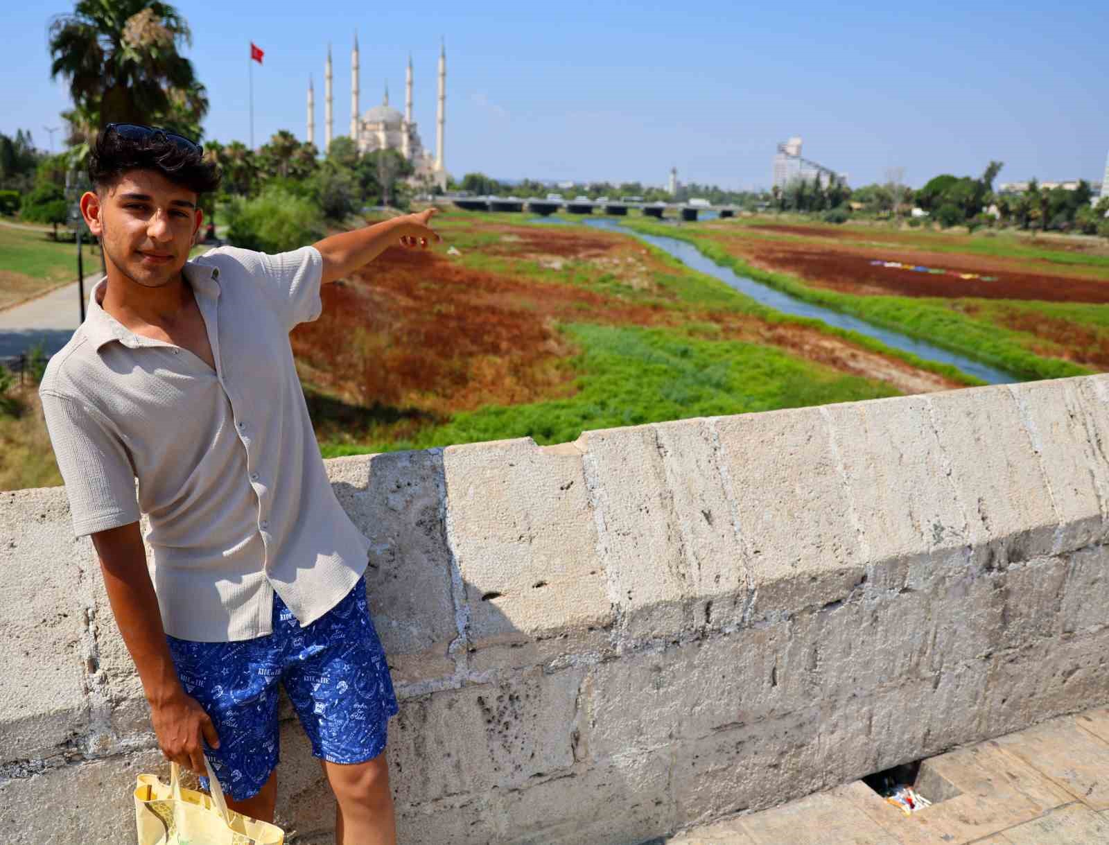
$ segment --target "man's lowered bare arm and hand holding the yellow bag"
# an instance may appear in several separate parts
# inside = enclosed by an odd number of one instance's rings
[[[201,739],[212,747],[218,747],[220,740],[207,713],[177,680],[154,584],[146,569],[146,550],[139,523],[98,531],[92,542],[100,557],[115,624],[139,670],[150,703],[151,722],[162,753],[174,763],[204,774]]]

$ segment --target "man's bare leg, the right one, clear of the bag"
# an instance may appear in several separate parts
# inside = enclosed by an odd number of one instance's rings
[[[385,752],[366,763],[323,761],[323,765],[338,803],[335,845],[396,845],[397,821]]]

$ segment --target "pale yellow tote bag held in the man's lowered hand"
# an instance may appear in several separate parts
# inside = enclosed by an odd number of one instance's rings
[[[139,775],[134,792],[139,845],[282,845],[285,842],[279,827],[228,810],[211,766],[207,774],[211,795],[182,788],[176,763],[171,765],[169,785],[157,775]]]

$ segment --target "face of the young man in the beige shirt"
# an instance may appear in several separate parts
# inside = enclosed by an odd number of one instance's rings
[[[197,196],[155,171],[124,173],[114,185],[81,197],[89,231],[101,238],[104,257],[143,287],[177,278],[189,259],[203,212]]]

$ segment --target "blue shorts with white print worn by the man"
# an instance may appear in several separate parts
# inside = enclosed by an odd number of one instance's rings
[[[185,692],[215,724],[220,749],[207,749],[207,759],[235,801],[256,795],[277,765],[278,681],[315,756],[363,763],[385,750],[397,699],[369,618],[364,579],[304,628],[275,594],[273,632],[265,637],[238,642],[166,639]]]

